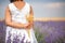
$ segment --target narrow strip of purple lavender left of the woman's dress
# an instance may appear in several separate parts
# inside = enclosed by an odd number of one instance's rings
[[[5,40],[5,24],[0,22],[0,43],[4,43]]]

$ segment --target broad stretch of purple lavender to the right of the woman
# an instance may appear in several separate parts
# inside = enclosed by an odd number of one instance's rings
[[[35,22],[35,28],[39,43],[65,43],[65,22]]]

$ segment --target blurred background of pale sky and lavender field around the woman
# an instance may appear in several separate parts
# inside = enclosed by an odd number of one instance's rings
[[[34,29],[39,43],[65,43],[65,0],[25,0],[34,10]],[[4,43],[4,12],[10,0],[0,0],[0,43]]]

